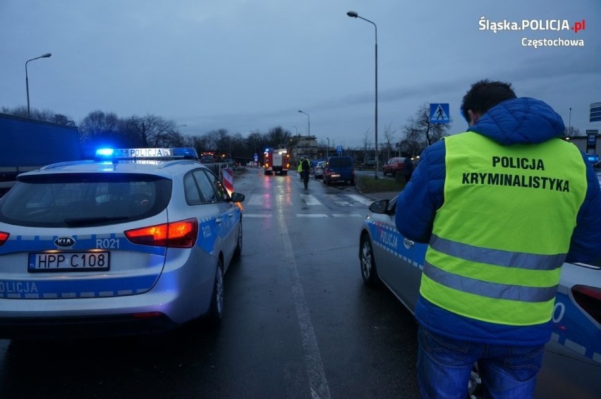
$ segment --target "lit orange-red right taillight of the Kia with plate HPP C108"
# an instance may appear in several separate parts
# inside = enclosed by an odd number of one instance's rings
[[[173,223],[134,228],[124,233],[134,244],[154,247],[191,248],[198,238],[198,221],[186,219]]]

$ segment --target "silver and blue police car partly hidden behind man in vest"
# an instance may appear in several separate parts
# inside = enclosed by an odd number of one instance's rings
[[[396,230],[396,198],[370,205],[359,233],[363,281],[383,285],[413,313],[427,245]],[[600,259],[601,261],[601,259]],[[555,300],[552,338],[538,374],[537,398],[596,398],[601,392],[601,262],[564,264]],[[477,368],[469,392],[479,393]]]

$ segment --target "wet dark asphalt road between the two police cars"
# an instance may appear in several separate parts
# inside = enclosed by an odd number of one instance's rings
[[[246,195],[243,253],[226,272],[218,329],[0,340],[0,398],[416,398],[417,325],[360,277],[369,200],[258,169],[234,190]]]

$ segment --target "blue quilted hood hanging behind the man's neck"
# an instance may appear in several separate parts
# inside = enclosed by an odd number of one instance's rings
[[[502,145],[538,144],[564,135],[561,116],[538,99],[521,97],[493,106],[468,129]]]

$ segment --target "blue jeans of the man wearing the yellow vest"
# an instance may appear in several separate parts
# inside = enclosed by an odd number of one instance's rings
[[[487,345],[439,336],[420,326],[418,386],[422,398],[466,399],[478,362],[484,398],[532,398],[544,346]]]

